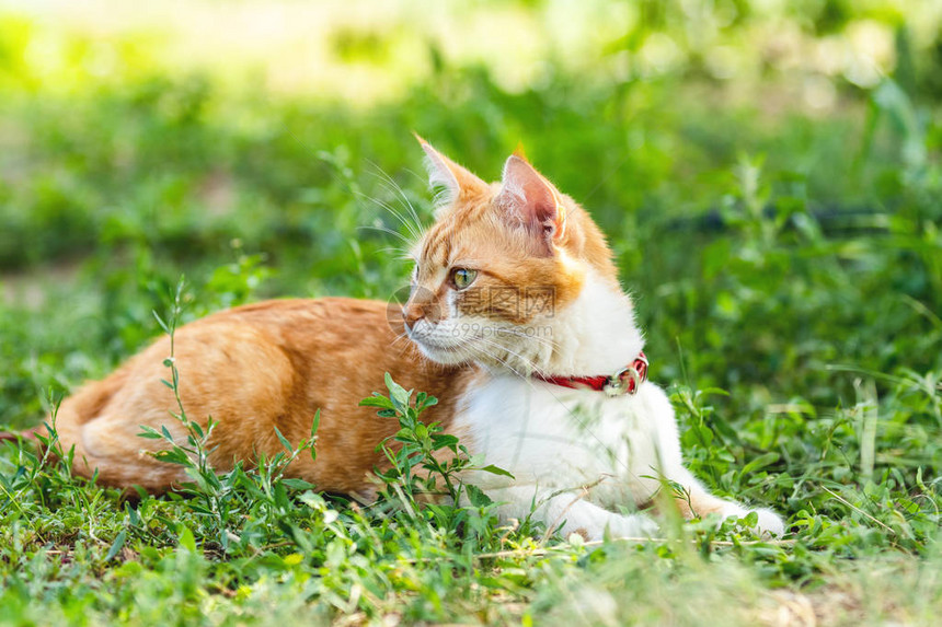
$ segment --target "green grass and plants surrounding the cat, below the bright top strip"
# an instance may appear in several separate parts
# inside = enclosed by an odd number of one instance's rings
[[[897,20],[835,11],[790,19],[812,38]],[[383,205],[430,221],[410,131],[490,178],[522,141],[610,236],[689,465],[791,533],[706,521],[587,546],[502,526],[486,495],[424,504],[407,473],[363,508],[280,477],[309,450],[221,477],[197,464],[181,495],[126,499],[4,445],[0,623],[938,622],[942,73],[904,62],[904,36],[894,76],[834,79],[840,111],[809,115],[755,104],[788,77],[743,104],[696,56],[619,81],[560,66],[522,91],[439,59],[402,97],[351,107],[135,70],[133,47],[118,80],[95,79],[79,38],[64,62],[81,86],[64,90],[28,61],[23,23],[0,19],[0,423],[36,423],[163,333],[153,312],[173,317],[182,275],[180,322],[387,299],[410,268]],[[409,468],[453,443],[410,427],[399,394],[377,420],[406,420]]]

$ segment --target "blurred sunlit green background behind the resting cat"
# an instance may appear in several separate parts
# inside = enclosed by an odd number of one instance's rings
[[[792,511],[812,475],[905,492],[942,442],[940,23],[884,0],[0,2],[0,422],[157,335],[183,274],[191,317],[386,299],[395,213],[429,220],[415,130],[486,178],[521,142],[593,213],[653,379],[728,393],[677,397],[714,484]]]

